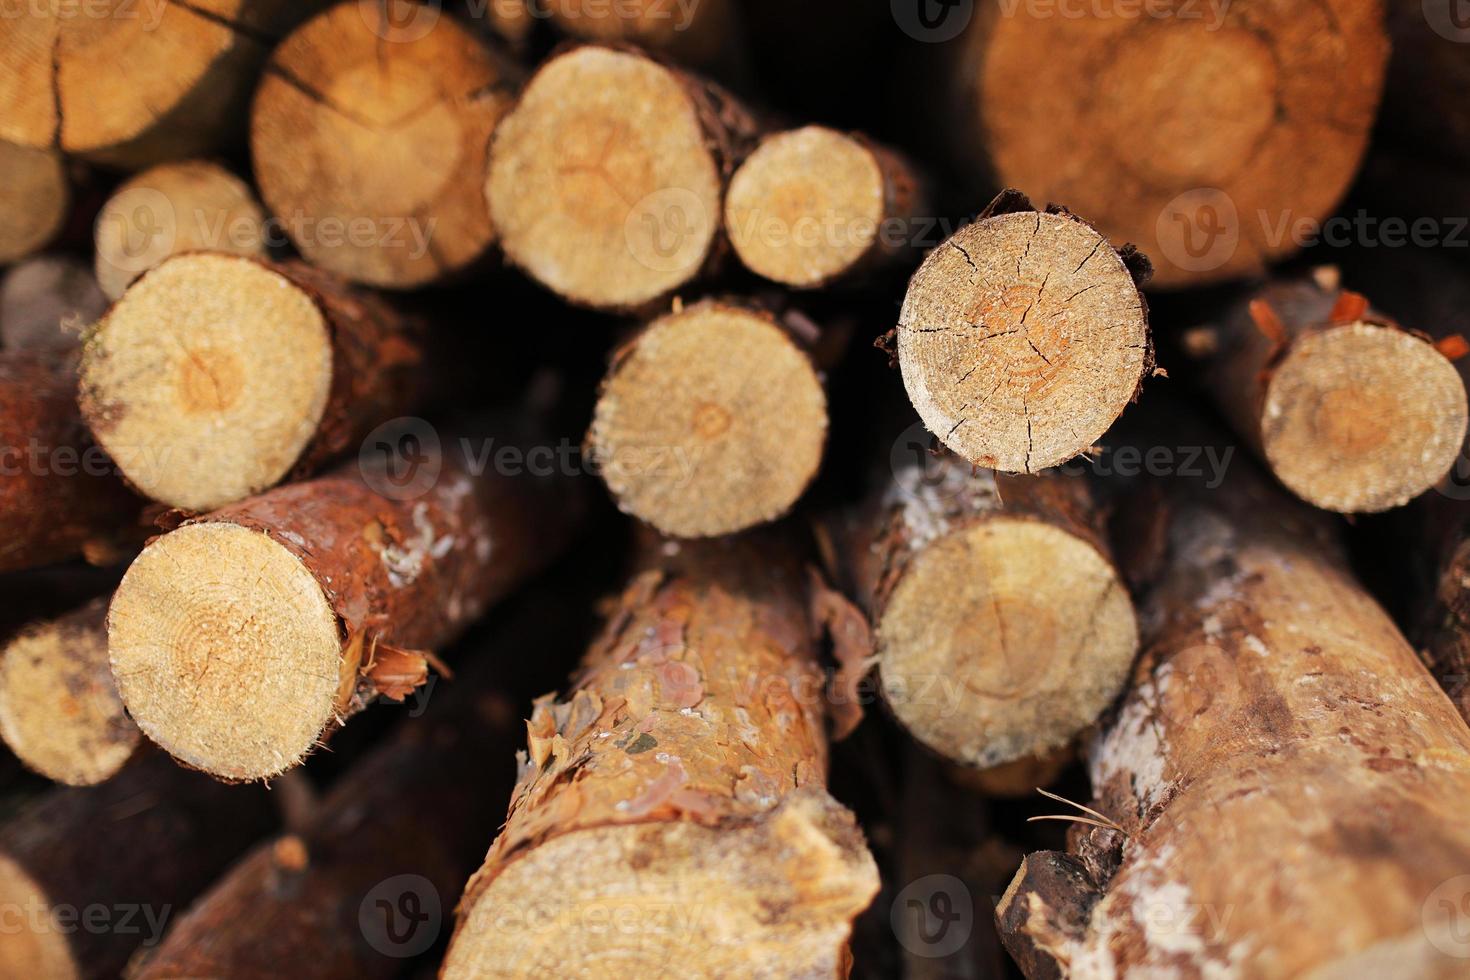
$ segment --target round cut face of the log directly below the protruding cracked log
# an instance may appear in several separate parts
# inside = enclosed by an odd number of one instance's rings
[[[995,517],[928,545],[878,623],[894,714],[978,767],[1064,745],[1117,695],[1136,651],[1113,564],[1028,519]]]

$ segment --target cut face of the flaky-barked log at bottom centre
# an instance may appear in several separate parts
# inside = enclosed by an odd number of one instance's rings
[[[878,892],[863,836],[820,789],[736,826],[595,827],[470,896],[444,977],[838,977]]]

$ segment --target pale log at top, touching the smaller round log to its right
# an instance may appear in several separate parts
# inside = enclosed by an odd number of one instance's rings
[[[490,151],[506,257],[572,303],[653,306],[716,257],[725,182],[754,132],[726,93],[635,51],[551,57]]]

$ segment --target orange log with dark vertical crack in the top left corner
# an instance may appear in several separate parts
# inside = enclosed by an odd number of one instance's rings
[[[266,53],[325,0],[104,0],[9,18],[0,140],[129,169],[234,141]]]

